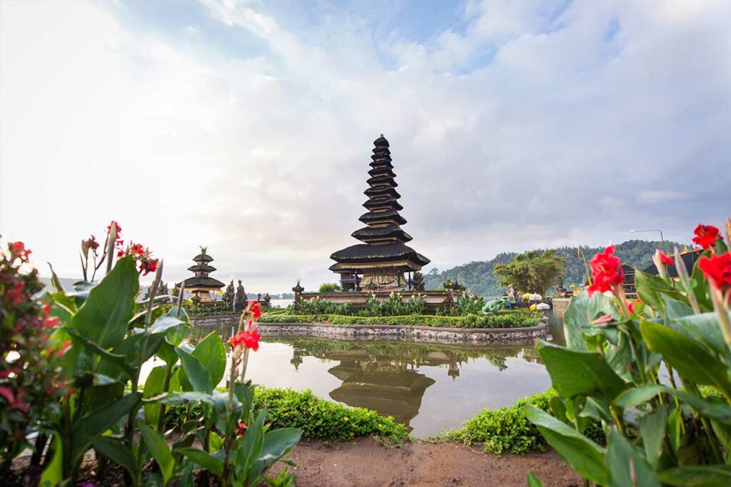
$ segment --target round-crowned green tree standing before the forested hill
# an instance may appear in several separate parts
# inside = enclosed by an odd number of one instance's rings
[[[564,259],[556,256],[556,250],[529,250],[510,264],[497,264],[493,273],[501,278],[501,285],[512,284],[520,291],[545,296],[548,288],[561,282]]]

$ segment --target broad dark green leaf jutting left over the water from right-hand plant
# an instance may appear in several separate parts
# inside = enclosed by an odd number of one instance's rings
[[[607,402],[626,388],[621,378],[595,352],[569,350],[540,340],[538,351],[553,388],[564,398],[599,396]]]

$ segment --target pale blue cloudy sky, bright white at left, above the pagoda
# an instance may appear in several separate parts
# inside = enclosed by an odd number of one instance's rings
[[[372,141],[412,247],[688,241],[731,215],[731,2],[0,1],[0,233],[79,275],[110,219],[249,291],[333,280]],[[653,234],[643,237],[653,238]]]

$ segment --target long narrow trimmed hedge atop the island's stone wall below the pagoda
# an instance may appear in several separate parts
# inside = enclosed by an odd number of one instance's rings
[[[522,328],[537,326],[543,314],[536,311],[498,313],[496,315],[466,316],[346,316],[346,315],[270,315],[259,323],[330,323],[333,325],[401,325],[442,326],[444,328]]]

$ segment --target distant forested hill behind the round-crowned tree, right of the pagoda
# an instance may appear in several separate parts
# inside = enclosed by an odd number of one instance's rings
[[[661,242],[648,242],[647,240],[628,240],[617,245],[616,255],[622,259],[623,264],[645,269],[652,264],[652,254],[656,248],[660,248]],[[683,248],[682,244],[676,242],[665,242],[665,248],[668,252],[673,249],[673,245]],[[588,262],[595,253],[601,252],[601,247],[582,247],[586,261]],[[461,266],[453,267],[446,271],[431,269],[424,275],[424,283],[427,289],[441,288],[444,280],[450,277],[455,278],[473,293],[482,294],[483,296],[500,296],[503,288],[498,284],[493,269],[496,264],[508,264],[518,254],[515,252],[499,253],[495,258],[489,261],[470,262]],[[584,271],[583,261],[577,256],[576,247],[561,247],[556,249],[556,255],[564,258],[566,264],[564,269],[564,285],[569,284],[580,285],[586,281],[586,272]]]

